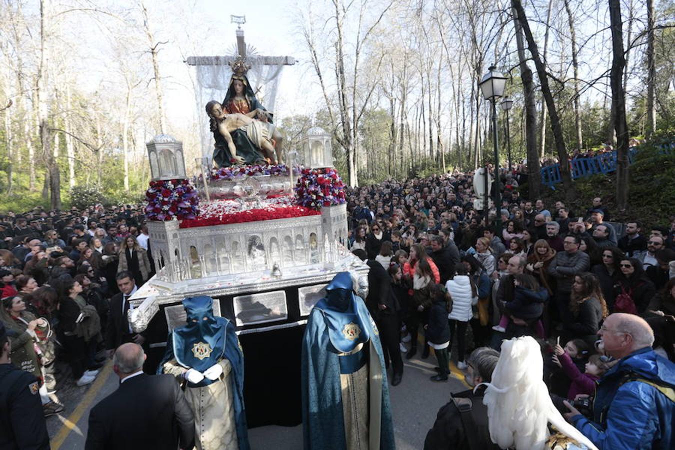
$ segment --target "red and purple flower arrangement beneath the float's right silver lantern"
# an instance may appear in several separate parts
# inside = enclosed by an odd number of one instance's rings
[[[332,167],[302,169],[295,192],[300,206],[316,210],[347,201],[342,178]]]

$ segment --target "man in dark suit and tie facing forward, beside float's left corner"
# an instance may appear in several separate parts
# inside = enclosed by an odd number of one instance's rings
[[[134,282],[134,276],[124,271],[115,277],[119,293],[110,299],[110,312],[108,313],[108,325],[105,333],[105,348],[108,357],[112,358],[115,349],[127,342],[143,345],[145,337],[141,333],[133,333],[127,319],[129,310],[132,309],[129,298],[138,290]]]

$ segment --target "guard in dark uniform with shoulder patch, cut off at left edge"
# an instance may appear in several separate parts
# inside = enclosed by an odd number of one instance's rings
[[[9,362],[9,339],[0,322],[0,449],[49,450],[37,378]]]

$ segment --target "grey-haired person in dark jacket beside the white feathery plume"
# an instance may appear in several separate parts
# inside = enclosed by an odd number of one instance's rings
[[[473,388],[492,380],[499,352],[489,347],[478,347],[466,360],[466,383],[472,389],[454,393],[450,401],[438,411],[433,427],[427,433],[425,450],[498,449],[490,440],[487,426],[487,407],[483,405],[485,387]]]

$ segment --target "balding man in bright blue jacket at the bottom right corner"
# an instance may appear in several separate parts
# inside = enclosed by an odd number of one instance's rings
[[[593,421],[568,402],[566,418],[599,449],[675,448],[675,364],[655,354],[647,322],[611,314],[597,334],[618,361],[595,389]]]

